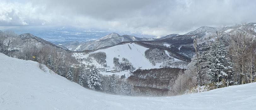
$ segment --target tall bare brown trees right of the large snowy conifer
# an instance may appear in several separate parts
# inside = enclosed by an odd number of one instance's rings
[[[255,82],[255,24],[238,24],[234,27],[229,34],[229,54],[235,68],[234,80],[239,84]]]

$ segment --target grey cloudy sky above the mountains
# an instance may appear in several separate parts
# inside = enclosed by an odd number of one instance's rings
[[[256,22],[255,0],[0,0],[0,29],[71,25],[154,36]]]

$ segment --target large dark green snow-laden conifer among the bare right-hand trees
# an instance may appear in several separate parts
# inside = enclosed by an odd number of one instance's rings
[[[212,41],[200,55],[200,64],[203,69],[202,75],[208,76],[210,83],[216,83],[219,88],[219,82],[229,83],[228,76],[232,73],[232,63],[227,58],[227,52],[221,42]],[[222,82],[224,81],[224,82]]]

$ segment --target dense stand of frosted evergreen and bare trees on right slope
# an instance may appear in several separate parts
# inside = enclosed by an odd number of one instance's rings
[[[203,85],[211,90],[255,82],[255,35],[255,26],[243,23],[219,28],[208,37],[195,37],[196,54],[179,74],[174,90],[184,93]]]

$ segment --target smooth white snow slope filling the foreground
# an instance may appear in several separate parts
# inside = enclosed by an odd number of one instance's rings
[[[1,110],[255,110],[256,83],[173,97],[91,91],[38,63],[0,53]]]

